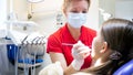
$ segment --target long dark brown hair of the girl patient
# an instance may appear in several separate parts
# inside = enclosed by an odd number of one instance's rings
[[[108,47],[119,52],[121,57],[110,58],[99,67],[89,68],[94,75],[112,75],[121,65],[133,58],[133,22],[125,19],[110,19],[101,28],[103,40]]]

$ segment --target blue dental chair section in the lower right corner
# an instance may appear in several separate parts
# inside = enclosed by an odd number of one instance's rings
[[[113,75],[133,75],[133,60],[121,66]]]

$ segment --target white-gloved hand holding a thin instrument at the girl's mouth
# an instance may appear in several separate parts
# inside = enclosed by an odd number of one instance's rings
[[[74,69],[80,71],[84,63],[84,58],[90,55],[90,51],[89,46],[84,45],[81,41],[73,45],[72,56],[74,60],[72,66]]]

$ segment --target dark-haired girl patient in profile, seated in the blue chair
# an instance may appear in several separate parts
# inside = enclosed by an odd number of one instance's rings
[[[81,45],[73,46],[73,56],[79,54],[80,58],[84,58],[84,49],[81,47],[85,45]],[[91,67],[74,75],[113,75],[121,65],[133,58],[133,22],[124,19],[105,21],[92,42],[91,56]]]

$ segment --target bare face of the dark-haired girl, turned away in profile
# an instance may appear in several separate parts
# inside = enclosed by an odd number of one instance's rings
[[[91,53],[92,58],[98,60],[99,57],[101,57],[101,51],[103,49],[104,49],[104,40],[99,31],[92,42],[92,53]]]

